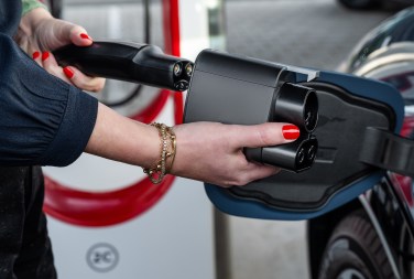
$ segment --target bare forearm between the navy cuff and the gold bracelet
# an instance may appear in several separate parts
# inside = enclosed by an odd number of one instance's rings
[[[160,159],[160,136],[154,127],[123,117],[102,104],[86,152],[149,168]]]

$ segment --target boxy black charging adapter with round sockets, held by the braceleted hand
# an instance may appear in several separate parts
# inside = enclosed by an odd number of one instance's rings
[[[312,135],[318,120],[318,100],[313,88],[297,83],[296,75],[310,72],[205,50],[195,63],[184,122],[294,124],[301,130],[294,142],[247,148],[244,154],[248,160],[294,172],[307,170],[318,149]],[[312,75],[315,77],[317,73]]]

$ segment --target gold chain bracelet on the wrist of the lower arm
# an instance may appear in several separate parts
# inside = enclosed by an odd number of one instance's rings
[[[151,126],[159,130],[161,139],[160,160],[152,168],[143,168],[143,172],[148,174],[152,183],[159,184],[173,167],[176,153],[176,137],[173,129],[164,124],[153,122]],[[172,160],[167,168],[166,161],[168,158],[172,158]]]

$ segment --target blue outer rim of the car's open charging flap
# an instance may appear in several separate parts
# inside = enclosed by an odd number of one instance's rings
[[[304,76],[297,75],[298,81],[304,81]],[[336,85],[356,96],[386,104],[395,112],[394,132],[400,132],[404,120],[404,101],[400,92],[390,84],[335,72],[320,72],[319,77],[315,81]],[[229,194],[227,190],[216,185],[206,184],[205,187],[215,206],[230,215],[261,219],[298,221],[317,217],[350,202],[375,185],[383,178],[385,171],[377,170],[360,180],[353,181],[334,193],[324,206],[313,211],[270,207],[259,201],[237,198]]]

